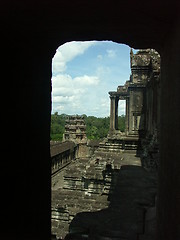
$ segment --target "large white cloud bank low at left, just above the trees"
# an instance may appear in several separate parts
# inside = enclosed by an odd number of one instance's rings
[[[97,76],[79,76],[72,78],[67,74],[59,74],[52,77],[52,110],[61,112],[66,110],[68,114],[77,113],[86,109],[87,98],[91,96],[94,86],[99,83]]]

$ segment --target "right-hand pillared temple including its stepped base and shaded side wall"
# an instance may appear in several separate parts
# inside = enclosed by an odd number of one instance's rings
[[[143,166],[155,169],[159,158],[160,55],[153,49],[130,52],[131,76],[124,86],[109,92],[110,130],[95,155],[119,155],[137,150]],[[118,130],[118,101],[126,100],[125,133]]]

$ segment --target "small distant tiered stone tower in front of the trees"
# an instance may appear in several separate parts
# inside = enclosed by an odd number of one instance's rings
[[[87,143],[86,125],[83,116],[68,116],[66,120],[63,140],[73,141],[76,144]]]

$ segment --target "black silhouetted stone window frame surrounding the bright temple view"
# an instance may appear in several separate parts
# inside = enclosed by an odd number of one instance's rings
[[[161,55],[157,239],[180,239],[179,1],[6,0],[0,9],[1,87],[10,96],[1,101],[1,239],[50,239],[52,57],[65,42],[94,39]]]

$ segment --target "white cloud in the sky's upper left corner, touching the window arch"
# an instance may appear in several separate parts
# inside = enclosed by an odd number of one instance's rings
[[[68,42],[60,46],[52,60],[53,74],[65,72],[66,63],[78,55],[82,55],[89,47],[96,44],[96,41]]]

